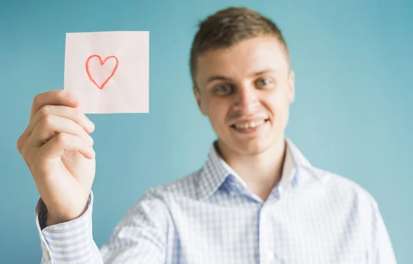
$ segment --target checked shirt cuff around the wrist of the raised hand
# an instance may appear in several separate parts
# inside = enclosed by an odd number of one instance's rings
[[[93,192],[87,210],[72,221],[45,226],[47,208],[42,199],[36,206],[36,227],[41,240],[43,259],[51,263],[81,261],[89,258],[94,245],[92,236]]]

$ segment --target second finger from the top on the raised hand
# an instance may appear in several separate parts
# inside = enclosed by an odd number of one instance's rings
[[[27,128],[27,133],[30,135],[36,124],[39,123],[40,120],[45,118],[47,115],[56,115],[61,118],[70,119],[77,124],[80,124],[88,133],[92,133],[94,131],[94,123],[90,121],[89,118],[87,118],[86,115],[84,113],[81,113],[81,111],[79,111],[78,109],[66,107],[63,105],[47,104],[41,107],[41,109],[39,109],[39,111],[34,114]]]

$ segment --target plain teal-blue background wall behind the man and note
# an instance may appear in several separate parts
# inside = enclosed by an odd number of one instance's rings
[[[39,194],[16,142],[32,99],[63,89],[66,32],[149,30],[150,113],[89,115],[100,247],[145,190],[202,166],[215,135],[196,107],[200,19],[246,5],[284,31],[297,78],[286,131],[322,168],[379,202],[399,263],[413,263],[412,1],[1,1],[0,263],[39,263]]]

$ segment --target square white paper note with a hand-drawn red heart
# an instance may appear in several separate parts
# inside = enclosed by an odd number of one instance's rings
[[[83,113],[149,113],[149,32],[67,33],[64,89]]]

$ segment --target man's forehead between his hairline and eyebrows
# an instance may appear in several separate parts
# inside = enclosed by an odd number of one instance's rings
[[[286,72],[289,68],[287,56],[285,48],[274,37],[247,39],[198,56],[196,78],[202,85],[215,75],[237,79],[265,69]]]

